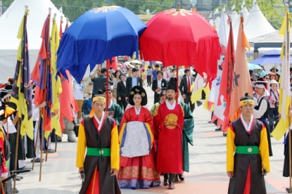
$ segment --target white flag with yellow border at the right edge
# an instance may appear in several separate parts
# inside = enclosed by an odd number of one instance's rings
[[[290,30],[290,25],[286,25],[287,18],[289,18],[289,12],[286,12],[286,17],[284,18],[283,25],[279,32],[280,35],[284,34],[284,41],[281,51],[281,88],[279,97],[279,113],[281,114],[281,119],[277,124],[276,129],[272,132],[272,136],[279,141],[280,138],[284,136],[286,130],[289,129],[289,118],[288,109],[291,107],[291,89],[290,89],[290,42],[288,41],[288,32]]]

